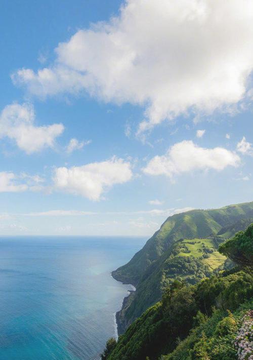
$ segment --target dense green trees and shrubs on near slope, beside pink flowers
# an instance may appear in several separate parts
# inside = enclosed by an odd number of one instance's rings
[[[162,358],[231,360],[238,321],[228,310],[235,311],[252,295],[252,276],[244,271],[222,273],[196,285],[176,280],[162,301],[119,337],[108,360],[155,360],[166,353],[171,354]]]

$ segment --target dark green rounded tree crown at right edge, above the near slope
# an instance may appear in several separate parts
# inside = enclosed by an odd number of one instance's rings
[[[253,224],[245,231],[237,232],[219,247],[219,251],[238,265],[253,269]]]

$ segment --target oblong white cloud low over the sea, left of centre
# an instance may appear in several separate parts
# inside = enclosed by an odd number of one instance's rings
[[[131,180],[131,164],[112,157],[101,163],[79,167],[55,169],[54,183],[57,189],[80,194],[91,200],[99,200],[102,193],[114,184]]]

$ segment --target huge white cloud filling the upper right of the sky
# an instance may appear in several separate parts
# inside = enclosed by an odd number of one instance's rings
[[[253,68],[251,0],[126,0],[109,22],[77,31],[50,67],[19,69],[38,96],[83,91],[146,107],[139,131],[193,110],[226,110]]]

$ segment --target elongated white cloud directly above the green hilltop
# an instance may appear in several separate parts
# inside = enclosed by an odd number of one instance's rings
[[[223,170],[227,166],[238,166],[239,156],[223,147],[206,149],[192,141],[182,141],[169,148],[165,155],[154,156],[143,169],[150,175],[175,175],[194,170]]]

